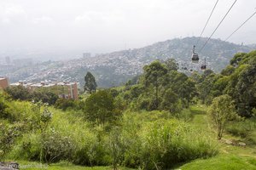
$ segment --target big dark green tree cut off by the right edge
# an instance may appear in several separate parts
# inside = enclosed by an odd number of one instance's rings
[[[236,54],[231,60],[230,64],[235,63],[236,66],[228,76],[224,94],[235,100],[240,116],[250,117],[256,107],[256,51]]]

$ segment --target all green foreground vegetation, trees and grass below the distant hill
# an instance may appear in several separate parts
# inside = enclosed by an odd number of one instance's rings
[[[123,87],[52,105],[26,99],[26,88],[1,92],[0,158],[49,169],[256,169],[255,57],[191,77],[157,60]]]

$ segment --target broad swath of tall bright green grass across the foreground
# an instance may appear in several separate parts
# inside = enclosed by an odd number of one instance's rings
[[[82,112],[53,108],[49,111],[52,118],[44,131],[24,131],[7,158],[155,169],[171,168],[179,162],[207,158],[218,152],[211,138],[166,111],[126,112],[119,127],[108,131],[91,127]],[[37,114],[26,112],[20,120],[26,116],[38,118]]]

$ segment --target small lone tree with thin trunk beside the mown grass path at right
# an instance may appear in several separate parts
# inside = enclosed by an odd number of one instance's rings
[[[227,94],[214,98],[208,113],[217,128],[218,139],[222,138],[226,123],[239,118],[234,101]]]

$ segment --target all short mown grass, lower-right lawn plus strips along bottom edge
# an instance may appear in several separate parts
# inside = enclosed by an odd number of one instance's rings
[[[204,105],[193,105],[190,107],[190,111],[193,114],[193,118],[188,122],[195,128],[204,129],[205,133],[209,138],[216,139],[216,133],[211,126],[210,120],[207,116],[207,107]],[[145,118],[145,117],[144,117]],[[224,133],[224,139],[236,139],[244,141],[240,137],[232,136],[229,133]],[[246,141],[244,141],[246,143]],[[227,170],[241,170],[241,169],[255,169],[256,170],[256,146],[255,144],[247,144],[246,147],[234,146],[230,144],[225,144],[224,142],[218,141],[219,153],[217,156],[208,159],[197,159],[194,161],[189,161],[183,165],[177,166],[177,169],[205,169],[205,170],[215,170],[215,169],[227,169]],[[18,161],[20,165],[37,165],[37,162],[30,161]],[[40,168],[20,168],[20,169],[40,169]],[[108,170],[113,169],[112,167],[81,167],[75,166],[66,161],[59,162],[49,165],[47,168],[49,170]],[[120,170],[128,170],[129,168],[119,167]]]

